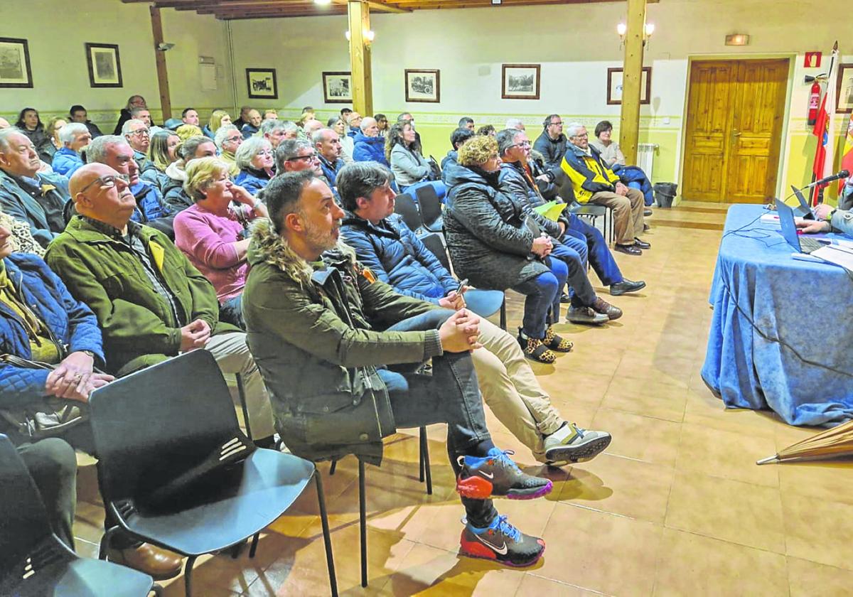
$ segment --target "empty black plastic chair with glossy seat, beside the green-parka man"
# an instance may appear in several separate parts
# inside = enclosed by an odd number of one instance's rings
[[[94,391],[91,426],[105,506],[119,530],[195,559],[238,545],[284,513],[313,477],[329,584],[337,594],[322,479],[310,461],[258,449],[241,432],[213,356],[192,351]]]

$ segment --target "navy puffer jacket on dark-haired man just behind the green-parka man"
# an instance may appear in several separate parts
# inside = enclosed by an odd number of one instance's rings
[[[438,304],[438,299],[459,287],[397,214],[374,225],[347,213],[340,234],[355,249],[358,261],[397,293]]]

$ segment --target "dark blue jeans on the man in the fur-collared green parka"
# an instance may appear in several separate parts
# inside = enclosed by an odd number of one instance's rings
[[[438,329],[451,315],[453,311],[449,310],[427,311],[397,322],[388,330]],[[379,369],[377,373],[385,382],[398,427],[447,424],[447,455],[450,466],[458,475],[461,470],[457,462],[459,456],[482,456],[494,447],[485,426],[483,400],[471,355],[467,352],[445,352],[433,358],[431,376],[413,373],[420,364],[414,363],[414,367],[394,366],[397,371]],[[497,515],[491,500],[461,498],[461,501],[472,525],[487,526]]]

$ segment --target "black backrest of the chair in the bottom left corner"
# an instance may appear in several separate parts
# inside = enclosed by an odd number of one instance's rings
[[[18,450],[0,434],[0,578],[51,532],[35,481]]]

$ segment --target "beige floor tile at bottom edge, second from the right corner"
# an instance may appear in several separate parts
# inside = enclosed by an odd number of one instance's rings
[[[654,594],[784,597],[788,594],[785,556],[666,529]]]

